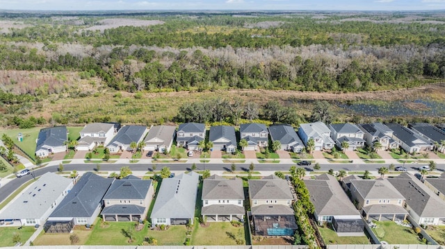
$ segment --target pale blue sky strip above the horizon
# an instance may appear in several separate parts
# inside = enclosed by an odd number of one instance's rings
[[[7,10],[444,10],[445,0],[0,0]]]

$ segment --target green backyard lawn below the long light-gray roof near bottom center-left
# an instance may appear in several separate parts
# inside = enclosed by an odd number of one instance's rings
[[[186,241],[186,226],[172,225],[168,230],[149,230],[147,234],[158,241],[158,246],[183,246]]]

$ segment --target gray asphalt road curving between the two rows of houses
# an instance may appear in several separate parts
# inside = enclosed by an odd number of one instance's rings
[[[101,171],[119,171],[122,166],[130,166],[132,171],[151,171],[152,164],[100,164]],[[296,164],[255,164],[254,171],[289,171],[289,168]],[[405,164],[408,171],[416,171],[419,166],[423,164]],[[156,164],[156,171],[161,170],[162,167],[170,167],[170,171],[186,171],[190,170],[192,164]],[[209,169],[211,171],[229,171],[230,164],[209,164],[202,163],[196,164],[197,170]],[[381,166],[386,166],[386,164],[321,164],[321,171],[327,171],[333,169],[334,171],[339,171],[341,169],[345,171],[377,171]],[[403,166],[403,164],[396,164],[396,166]],[[67,164],[64,166],[64,171],[94,171],[96,164]],[[47,166],[42,169],[33,171],[30,175],[25,175],[22,178],[15,178],[14,180],[8,182],[0,189],[0,203],[8,198],[8,196],[18,189],[25,182],[33,179],[33,177],[38,177],[47,172],[56,172],[58,166]],[[236,164],[236,171],[248,171],[249,164]],[[307,171],[312,171],[313,166],[305,166]],[[438,164],[437,170],[444,172],[445,164]]]

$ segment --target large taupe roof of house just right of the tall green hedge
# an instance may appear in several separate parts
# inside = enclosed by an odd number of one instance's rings
[[[325,173],[304,181],[318,216],[359,215],[334,176]]]

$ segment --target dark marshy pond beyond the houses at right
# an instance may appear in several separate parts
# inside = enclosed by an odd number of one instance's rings
[[[347,113],[359,113],[367,117],[444,117],[445,103],[430,99],[404,101],[348,101],[333,103]]]

